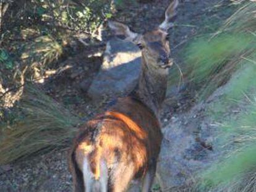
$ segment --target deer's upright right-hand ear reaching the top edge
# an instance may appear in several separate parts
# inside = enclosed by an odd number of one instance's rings
[[[165,12],[165,19],[164,22],[159,25],[161,30],[167,31],[169,28],[173,27],[173,20],[177,14],[177,6],[179,5],[179,0],[173,0],[169,7],[166,9]]]

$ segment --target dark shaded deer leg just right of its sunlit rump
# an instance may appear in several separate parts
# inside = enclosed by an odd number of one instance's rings
[[[156,161],[151,161],[150,165],[148,165],[148,170],[142,181],[142,192],[148,192],[153,185],[153,180],[155,178],[156,173]]]

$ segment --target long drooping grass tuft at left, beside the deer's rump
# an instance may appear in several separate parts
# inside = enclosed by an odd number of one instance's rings
[[[0,164],[64,148],[80,122],[78,117],[32,85],[26,86],[20,107],[24,118],[13,125],[0,127]]]

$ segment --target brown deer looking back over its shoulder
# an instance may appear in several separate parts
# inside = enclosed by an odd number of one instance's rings
[[[69,158],[74,191],[122,192],[132,180],[141,180],[142,191],[150,191],[162,140],[158,114],[172,65],[167,31],[177,5],[174,0],[164,22],[144,35],[109,22],[116,35],[142,49],[142,72],[129,96],[80,127]]]

